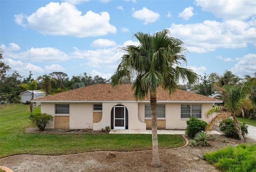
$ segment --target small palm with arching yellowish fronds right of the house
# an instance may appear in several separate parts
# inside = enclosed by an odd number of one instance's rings
[[[238,132],[239,138],[242,143],[244,143],[244,137],[242,135],[242,130],[236,116],[242,113],[244,116],[244,110],[252,108],[250,100],[247,98],[247,92],[250,86],[247,84],[233,85],[226,84],[222,88],[218,87],[222,92],[222,100],[224,102],[223,106],[215,106],[208,111],[206,111],[206,117],[217,113],[212,120],[206,126],[206,130],[209,130],[217,124],[220,120],[224,120],[230,116],[234,119],[236,130]]]

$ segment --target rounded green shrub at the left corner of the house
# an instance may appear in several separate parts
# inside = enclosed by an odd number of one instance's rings
[[[44,131],[46,125],[53,121],[54,116],[46,114],[46,113],[35,113],[29,116],[29,119],[35,124],[40,131]]]

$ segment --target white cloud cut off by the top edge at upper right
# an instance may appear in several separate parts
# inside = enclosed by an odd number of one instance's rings
[[[224,20],[245,20],[256,15],[255,0],[196,0],[196,5]]]

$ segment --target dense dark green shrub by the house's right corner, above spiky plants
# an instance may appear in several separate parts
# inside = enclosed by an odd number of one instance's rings
[[[207,125],[207,122],[198,118],[194,118],[193,116],[191,116],[190,119],[186,121],[186,123],[187,128],[185,134],[190,138],[193,138],[196,133],[204,131]]]

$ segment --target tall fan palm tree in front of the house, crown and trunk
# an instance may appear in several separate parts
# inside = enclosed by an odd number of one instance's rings
[[[169,30],[155,34],[137,32],[134,36],[139,40],[139,46],[129,45],[120,48],[128,52],[124,54],[113,76],[112,86],[118,86],[124,81],[135,78],[132,90],[136,100],[143,100],[150,94],[152,114],[152,166],[160,166],[158,155],[156,92],[158,87],[168,90],[169,94],[176,91],[180,79],[191,84],[197,81],[197,74],[192,70],[181,68],[181,62],[186,63],[183,42],[169,36]],[[181,61],[181,62],[180,62]]]

